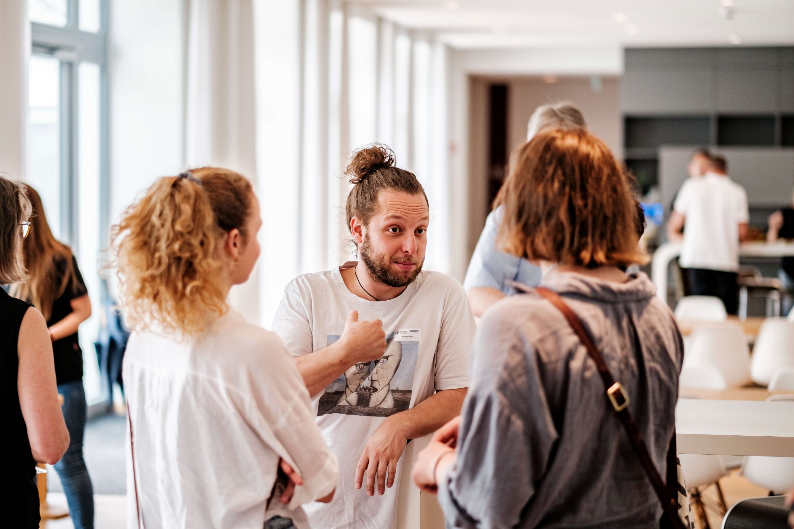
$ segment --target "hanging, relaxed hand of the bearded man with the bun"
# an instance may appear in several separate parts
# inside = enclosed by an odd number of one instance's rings
[[[399,426],[395,416],[388,417],[372,434],[364,447],[364,452],[356,467],[356,489],[361,488],[364,472],[367,474],[367,495],[375,495],[375,481],[378,481],[378,494],[383,495],[386,487],[394,485],[397,473],[397,462],[405,451],[407,435]],[[387,479],[388,475],[388,479]]]

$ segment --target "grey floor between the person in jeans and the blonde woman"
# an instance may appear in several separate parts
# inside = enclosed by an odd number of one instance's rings
[[[86,424],[83,439],[83,457],[94,485],[94,494],[124,494],[126,492],[124,437],[125,416],[106,415]],[[47,466],[47,487],[53,493],[62,493],[58,473]]]

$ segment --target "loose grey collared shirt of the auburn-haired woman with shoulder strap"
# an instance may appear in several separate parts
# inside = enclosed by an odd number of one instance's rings
[[[583,321],[663,479],[684,346],[646,274],[625,283],[549,274]],[[658,527],[662,509],[584,345],[536,293],[477,329],[457,463],[438,499],[447,527]]]

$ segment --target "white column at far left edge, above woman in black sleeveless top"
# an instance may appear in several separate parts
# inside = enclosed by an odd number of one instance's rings
[[[24,179],[30,24],[25,0],[0,2],[0,173]]]

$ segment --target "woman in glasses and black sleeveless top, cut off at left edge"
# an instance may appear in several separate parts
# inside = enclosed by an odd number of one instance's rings
[[[0,284],[25,281],[25,188],[0,176]],[[55,464],[69,446],[44,317],[0,289],[0,476],[4,527],[39,527],[36,462]]]

